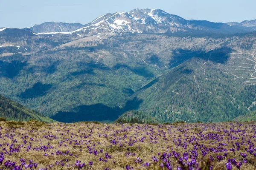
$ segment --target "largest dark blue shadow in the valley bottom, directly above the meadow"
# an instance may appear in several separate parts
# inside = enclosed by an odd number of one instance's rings
[[[59,122],[72,123],[81,121],[114,121],[119,115],[119,108],[110,108],[98,103],[95,105],[81,105],[70,112],[60,111],[51,118]]]

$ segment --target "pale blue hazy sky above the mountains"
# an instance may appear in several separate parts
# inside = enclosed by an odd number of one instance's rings
[[[256,19],[256,0],[0,0],[0,27],[24,28],[47,21],[90,23],[105,13],[160,8],[187,20]]]

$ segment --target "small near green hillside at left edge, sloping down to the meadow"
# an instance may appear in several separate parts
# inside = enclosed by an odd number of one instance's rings
[[[4,96],[0,95],[0,117],[4,117],[7,120],[15,121],[28,121],[35,119],[42,122],[54,122],[47,116],[42,115],[36,111],[32,111],[23,105],[20,105]]]

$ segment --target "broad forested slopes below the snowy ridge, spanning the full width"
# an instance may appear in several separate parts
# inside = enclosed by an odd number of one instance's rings
[[[32,53],[1,57],[1,94],[60,122],[113,121],[130,110],[156,122],[226,121],[254,109],[255,33],[46,43],[61,37],[24,37]]]

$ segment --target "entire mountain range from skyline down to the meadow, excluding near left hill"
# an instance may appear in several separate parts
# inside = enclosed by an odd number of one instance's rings
[[[256,109],[256,25],[160,9],[0,28],[0,94],[59,122],[220,122]]]

